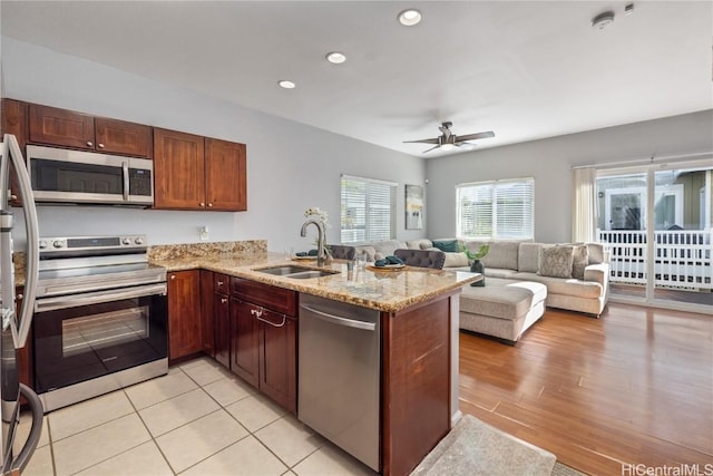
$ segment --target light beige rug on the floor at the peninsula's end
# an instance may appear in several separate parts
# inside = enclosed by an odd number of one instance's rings
[[[411,474],[550,476],[555,460],[551,453],[466,415]]]

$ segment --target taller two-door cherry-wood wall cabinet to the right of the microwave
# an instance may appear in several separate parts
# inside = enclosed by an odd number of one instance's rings
[[[245,145],[154,128],[154,207],[240,212]]]

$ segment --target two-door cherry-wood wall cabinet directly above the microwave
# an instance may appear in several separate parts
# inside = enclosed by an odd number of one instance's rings
[[[136,157],[152,156],[152,128],[31,104],[28,142]]]

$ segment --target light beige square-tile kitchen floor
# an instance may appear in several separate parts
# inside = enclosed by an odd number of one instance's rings
[[[46,415],[22,473],[178,474],[374,475],[208,358]]]

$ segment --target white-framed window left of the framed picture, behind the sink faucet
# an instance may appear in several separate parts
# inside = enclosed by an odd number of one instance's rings
[[[342,243],[395,237],[397,184],[342,175]]]

